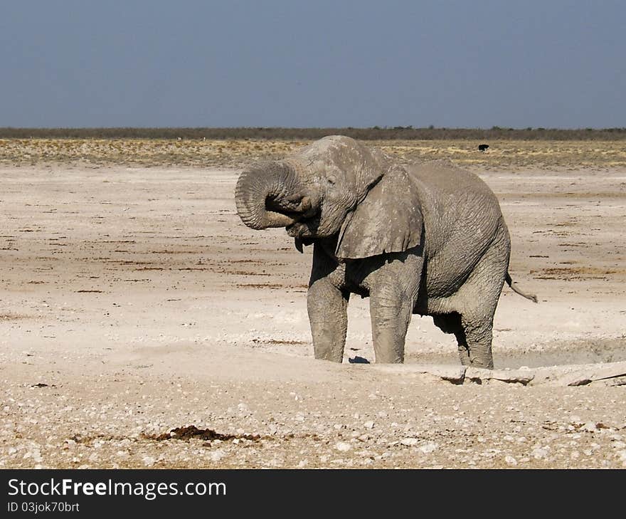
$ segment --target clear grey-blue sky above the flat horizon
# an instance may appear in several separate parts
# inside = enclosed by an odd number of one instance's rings
[[[626,2],[0,6],[0,127],[626,127]]]

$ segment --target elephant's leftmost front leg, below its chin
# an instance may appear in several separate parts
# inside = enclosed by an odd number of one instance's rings
[[[309,287],[307,310],[316,359],[341,362],[348,330],[349,293],[336,288],[327,278]]]

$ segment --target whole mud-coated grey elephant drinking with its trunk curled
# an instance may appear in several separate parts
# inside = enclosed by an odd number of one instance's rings
[[[314,355],[341,362],[351,293],[370,298],[376,362],[403,362],[411,315],[453,333],[463,365],[493,367],[492,327],[511,249],[496,196],[446,162],[403,167],[330,136],[244,171],[237,211],[313,245],[307,307]],[[535,300],[533,295],[521,293]]]

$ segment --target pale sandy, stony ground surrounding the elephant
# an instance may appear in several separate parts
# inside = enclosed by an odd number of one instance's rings
[[[458,365],[417,316],[407,365],[366,364],[358,297],[314,360],[311,250],[241,224],[238,172],[0,166],[1,468],[626,466],[620,379],[452,384],[410,369]],[[477,172],[540,300],[505,287],[497,369],[626,361],[626,170]]]

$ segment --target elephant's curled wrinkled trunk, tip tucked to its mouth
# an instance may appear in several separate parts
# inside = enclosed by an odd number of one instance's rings
[[[297,221],[290,214],[297,174],[290,164],[268,162],[246,169],[235,187],[235,204],[241,221],[252,229],[287,227]]]

